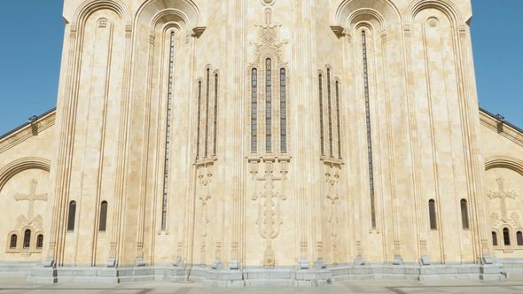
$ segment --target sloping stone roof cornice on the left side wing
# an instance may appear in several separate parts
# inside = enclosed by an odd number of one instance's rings
[[[56,120],[56,109],[45,112],[35,117],[35,120],[28,121],[18,128],[15,128],[6,135],[0,136],[0,153],[11,149],[12,147],[26,141],[43,130],[54,126]]]

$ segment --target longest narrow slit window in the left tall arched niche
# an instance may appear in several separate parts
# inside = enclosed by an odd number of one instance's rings
[[[167,121],[165,129],[165,162],[163,170],[163,198],[161,202],[161,230],[165,230],[167,221],[167,196],[168,196],[168,178],[169,178],[169,159],[171,143],[171,113],[173,88],[175,77],[175,32],[171,32],[169,43],[169,75],[168,75],[168,97],[167,97]]]

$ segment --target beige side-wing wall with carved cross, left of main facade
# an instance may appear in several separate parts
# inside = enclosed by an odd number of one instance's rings
[[[51,227],[54,120],[55,112],[51,112],[0,139],[0,261],[43,259]],[[24,244],[27,229],[31,234]],[[13,234],[17,235],[15,248],[10,244]],[[37,248],[39,235],[43,235],[43,248]]]

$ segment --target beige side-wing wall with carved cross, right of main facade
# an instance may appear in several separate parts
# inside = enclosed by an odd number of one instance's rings
[[[486,169],[483,195],[488,201],[488,228],[496,233],[496,258],[522,258],[523,236],[518,243],[517,235],[523,234],[523,134],[485,112],[480,113],[480,120]],[[506,244],[505,228],[509,239]]]

